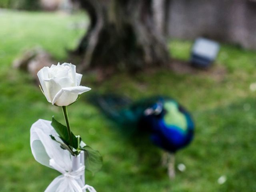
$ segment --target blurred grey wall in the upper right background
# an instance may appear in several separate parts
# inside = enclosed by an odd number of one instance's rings
[[[215,40],[256,49],[256,1],[171,0],[169,35]]]

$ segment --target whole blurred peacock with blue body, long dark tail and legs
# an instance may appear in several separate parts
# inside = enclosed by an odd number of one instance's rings
[[[188,146],[194,136],[194,121],[189,112],[176,100],[166,96],[152,96],[132,102],[114,94],[91,97],[102,111],[130,132],[148,132],[150,140],[162,148],[168,176],[175,177],[174,154]],[[127,130],[128,130],[127,129]]]

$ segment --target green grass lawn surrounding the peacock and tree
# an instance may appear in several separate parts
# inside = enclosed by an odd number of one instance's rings
[[[61,108],[46,101],[25,72],[12,68],[24,50],[41,45],[65,62],[84,33],[74,28],[86,22],[83,14],[9,12],[0,10],[0,191],[41,192],[59,175],[36,162],[30,150],[30,126],[52,115],[64,122]],[[172,40],[170,52],[188,60],[192,42]],[[122,80],[121,80],[122,79]],[[176,155],[177,170],[170,181],[161,166],[161,151],[122,137],[117,125],[85,101],[69,107],[72,130],[101,152],[104,164],[86,181],[98,192],[251,192],[256,191],[256,52],[222,44],[207,72],[179,74],[158,69],[134,76],[116,74],[101,84],[86,78],[92,91],[117,92],[134,99],[152,94],[176,98],[194,116],[192,144]],[[217,180],[226,176],[220,185]]]

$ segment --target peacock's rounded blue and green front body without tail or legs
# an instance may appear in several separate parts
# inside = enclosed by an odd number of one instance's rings
[[[149,112],[157,108],[159,112]],[[147,108],[140,120],[140,125],[143,124],[150,130],[152,142],[169,152],[187,146],[194,135],[190,114],[170,98],[159,98],[153,107]]]

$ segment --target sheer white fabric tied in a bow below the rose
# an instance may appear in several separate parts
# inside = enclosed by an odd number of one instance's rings
[[[50,135],[61,141],[50,121],[39,119],[31,126],[30,146],[34,158],[40,164],[62,174],[44,192],[96,192],[92,186],[84,185],[82,181],[85,166],[80,164],[78,169],[72,170],[71,154],[60,148],[60,144],[52,140]]]

